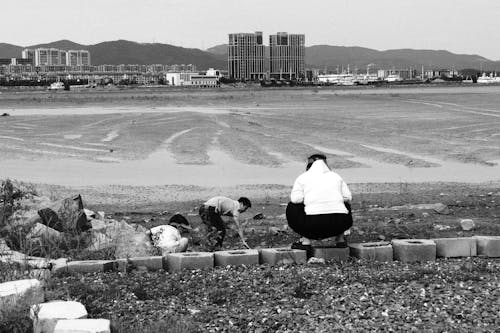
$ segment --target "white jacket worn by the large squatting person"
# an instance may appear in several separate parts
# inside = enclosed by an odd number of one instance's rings
[[[317,160],[297,177],[290,199],[293,203],[303,202],[307,215],[347,214],[344,201],[351,201],[352,195],[344,180],[323,160]]]

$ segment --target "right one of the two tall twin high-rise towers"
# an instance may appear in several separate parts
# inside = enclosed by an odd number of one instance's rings
[[[305,35],[278,32],[269,36],[269,75],[275,79],[305,78]]]

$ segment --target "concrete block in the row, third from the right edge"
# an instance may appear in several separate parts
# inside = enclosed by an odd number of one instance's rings
[[[402,262],[436,260],[436,243],[429,239],[393,239],[392,250]]]

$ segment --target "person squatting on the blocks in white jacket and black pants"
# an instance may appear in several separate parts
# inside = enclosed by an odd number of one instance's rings
[[[295,180],[286,209],[290,228],[302,236],[292,248],[311,251],[311,239],[335,237],[336,247],[347,247],[344,232],[352,226],[351,191],[330,170],[326,156],[308,158],[306,172]]]

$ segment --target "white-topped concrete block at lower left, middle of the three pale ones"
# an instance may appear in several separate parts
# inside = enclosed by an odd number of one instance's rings
[[[87,315],[85,306],[73,301],[35,304],[30,309],[34,333],[52,333],[60,319],[83,319]]]

